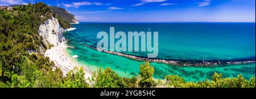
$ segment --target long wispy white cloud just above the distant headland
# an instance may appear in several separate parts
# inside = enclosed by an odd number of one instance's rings
[[[80,6],[90,6],[90,5],[104,5],[103,3],[100,2],[73,2],[71,4],[64,4],[62,3],[61,5],[63,5],[64,7],[75,7],[75,8],[79,8]]]

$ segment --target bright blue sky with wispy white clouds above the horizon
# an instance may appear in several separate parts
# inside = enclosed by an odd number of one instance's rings
[[[0,0],[0,6],[44,2],[79,21],[255,22],[255,0]]]

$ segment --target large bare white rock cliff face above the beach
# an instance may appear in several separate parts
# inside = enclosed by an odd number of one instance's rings
[[[44,24],[39,26],[39,35],[43,37],[44,44],[57,46],[65,40],[65,31],[56,18],[47,19]]]

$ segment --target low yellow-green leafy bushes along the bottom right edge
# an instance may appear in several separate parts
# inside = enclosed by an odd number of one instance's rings
[[[236,78],[222,78],[222,74],[216,72],[212,75],[212,80],[205,79],[205,81],[188,81],[177,75],[166,76],[166,83],[169,87],[175,88],[255,88],[255,77],[246,80],[242,75]]]

